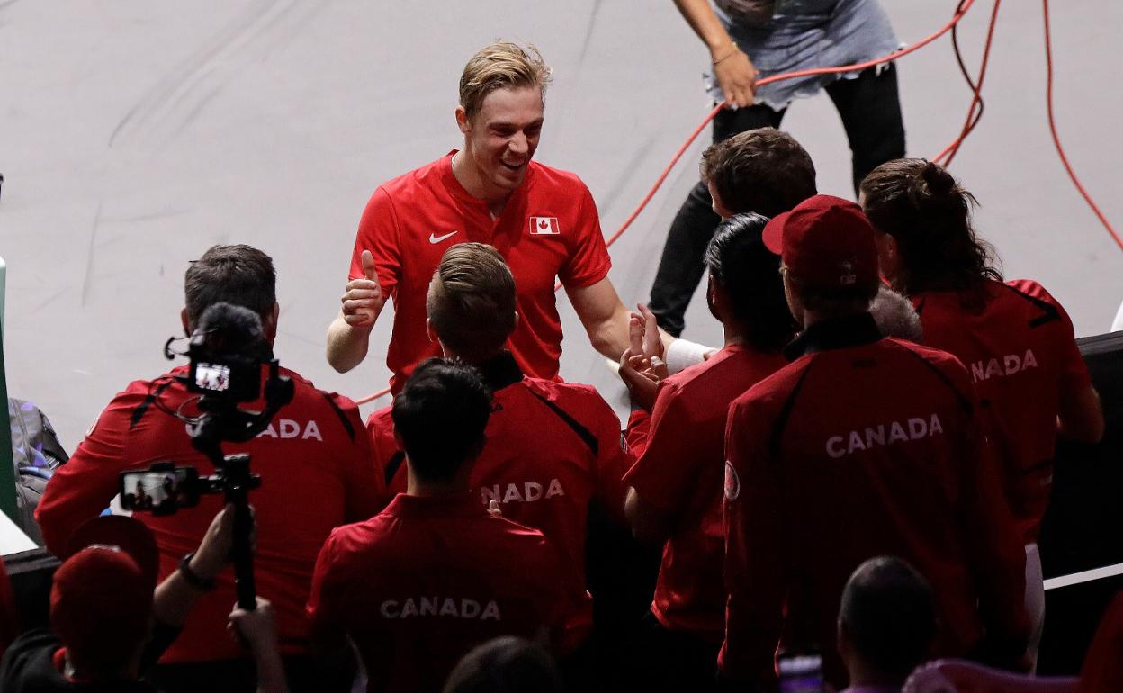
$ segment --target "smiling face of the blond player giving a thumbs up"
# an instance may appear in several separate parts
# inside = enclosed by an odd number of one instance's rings
[[[484,98],[472,119],[463,107],[457,108],[456,122],[464,133],[465,188],[483,200],[505,200],[522,184],[538,148],[541,89],[496,89]]]

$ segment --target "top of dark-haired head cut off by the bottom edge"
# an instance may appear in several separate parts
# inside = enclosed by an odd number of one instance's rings
[[[505,636],[471,650],[448,675],[444,693],[562,693],[557,666],[541,646]]]

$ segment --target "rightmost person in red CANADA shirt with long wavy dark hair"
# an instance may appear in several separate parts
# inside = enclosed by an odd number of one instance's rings
[[[938,164],[897,159],[861,183],[877,229],[882,273],[920,312],[924,344],[955,354],[971,374],[1006,500],[1025,541],[1026,605],[1037,655],[1044,589],[1037,538],[1049,504],[1057,434],[1104,435],[1099,395],[1076,346],[1072,321],[1032,280],[1003,283],[990,248],[975,237],[975,198]]]

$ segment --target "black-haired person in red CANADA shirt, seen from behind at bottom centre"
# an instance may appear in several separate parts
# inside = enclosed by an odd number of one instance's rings
[[[393,404],[407,492],[323,545],[313,630],[329,647],[350,637],[368,691],[439,691],[465,653],[499,636],[558,642],[587,596],[540,531],[490,516],[469,484],[491,408],[474,370],[420,364]]]

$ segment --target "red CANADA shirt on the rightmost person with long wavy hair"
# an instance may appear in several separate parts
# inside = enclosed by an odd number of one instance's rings
[[[913,297],[924,344],[955,354],[971,374],[1003,487],[1026,542],[1049,504],[1057,413],[1065,393],[1092,384],[1072,321],[1041,284],[986,281],[982,294]]]

